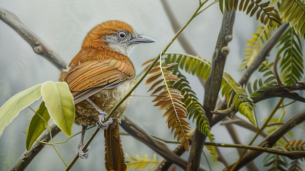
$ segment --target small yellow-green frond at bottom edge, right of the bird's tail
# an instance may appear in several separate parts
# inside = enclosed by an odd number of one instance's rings
[[[125,156],[129,160],[129,161],[126,161],[127,170],[130,170],[130,169],[144,170],[149,166],[151,166],[150,170],[152,170],[159,163],[156,154],[153,154],[153,159],[150,158],[147,154],[145,154],[144,157],[136,154],[135,155],[136,158],[134,158],[131,155],[125,153]]]

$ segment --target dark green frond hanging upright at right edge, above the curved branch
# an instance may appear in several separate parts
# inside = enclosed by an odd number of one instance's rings
[[[284,84],[293,86],[300,81],[304,74],[301,38],[291,28],[280,38],[278,46],[281,46],[281,49],[277,56],[283,54],[280,69],[283,74]]]

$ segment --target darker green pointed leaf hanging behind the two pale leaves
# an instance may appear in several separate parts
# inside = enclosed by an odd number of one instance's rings
[[[47,108],[44,105],[44,101],[40,103],[36,114],[32,117],[28,131],[26,133],[26,150],[29,150],[38,136],[43,133],[50,119]]]

